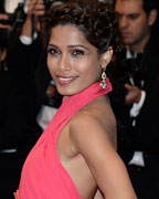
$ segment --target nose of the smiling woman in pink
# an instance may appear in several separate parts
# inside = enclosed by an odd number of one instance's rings
[[[61,71],[70,71],[72,69],[67,54],[62,54],[59,60],[59,67]]]

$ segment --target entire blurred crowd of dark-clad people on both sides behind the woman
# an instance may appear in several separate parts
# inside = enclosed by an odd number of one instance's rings
[[[13,198],[26,155],[62,102],[46,66],[41,20],[63,1],[0,1],[0,198]],[[138,198],[159,199],[158,0],[100,1],[115,8],[120,32],[107,69],[118,154]]]

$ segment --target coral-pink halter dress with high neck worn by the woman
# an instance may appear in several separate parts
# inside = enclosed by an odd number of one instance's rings
[[[51,124],[30,151],[21,175],[17,199],[82,199],[68,172],[62,166],[56,150],[57,137],[67,122],[86,104],[112,91],[99,82],[71,96],[56,112]]]

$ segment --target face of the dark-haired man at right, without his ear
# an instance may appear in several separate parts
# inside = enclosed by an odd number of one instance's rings
[[[124,44],[128,44],[134,52],[142,52],[151,28],[150,15],[142,9],[142,0],[117,0],[115,10],[119,13]]]

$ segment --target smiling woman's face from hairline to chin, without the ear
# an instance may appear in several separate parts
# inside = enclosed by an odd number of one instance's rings
[[[97,49],[71,24],[52,29],[47,52],[50,73],[64,96],[82,92],[100,76]]]

